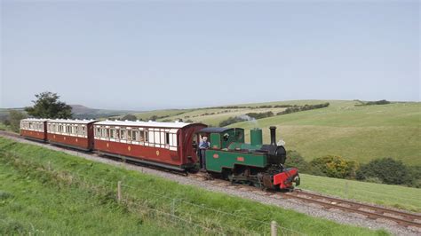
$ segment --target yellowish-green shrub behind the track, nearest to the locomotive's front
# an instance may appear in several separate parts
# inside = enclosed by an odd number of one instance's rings
[[[346,161],[346,159],[337,155],[328,155],[316,158],[310,161],[312,174],[322,172],[327,177],[352,178],[355,177],[357,163],[355,161]]]

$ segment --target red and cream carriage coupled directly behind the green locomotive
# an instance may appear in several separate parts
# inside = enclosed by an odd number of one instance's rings
[[[198,130],[206,125],[186,122],[104,121],[94,124],[95,150],[168,169],[193,169],[198,162]]]

